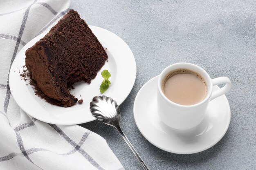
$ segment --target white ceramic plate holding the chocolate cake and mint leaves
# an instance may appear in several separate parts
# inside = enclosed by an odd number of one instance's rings
[[[79,82],[74,85],[75,89],[71,91],[71,94],[78,99],[83,99],[82,104],[76,104],[69,108],[49,104],[35,95],[29,81],[25,82],[21,79],[20,73],[23,71],[22,66],[25,65],[25,51],[40,38],[43,38],[49,30],[38,35],[20,50],[11,66],[9,84],[13,98],[28,115],[40,121],[58,125],[81,124],[95,120],[90,113],[89,107],[92,98],[101,95],[99,91],[99,86],[103,80],[101,72],[105,69],[111,74],[109,79],[111,84],[102,95],[112,97],[117,101],[117,104],[121,104],[129,95],[136,77],[136,63],[132,51],[114,33],[97,26],[89,27],[101,42],[103,48],[107,48],[108,62],[105,62],[105,65],[98,72],[97,77],[92,80],[91,84]]]

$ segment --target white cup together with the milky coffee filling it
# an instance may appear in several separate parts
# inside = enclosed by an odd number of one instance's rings
[[[213,91],[213,86],[218,84],[225,86]],[[158,77],[157,113],[161,121],[171,128],[193,128],[204,119],[209,102],[224,95],[230,88],[231,82],[227,77],[211,79],[204,69],[195,64],[173,64]]]

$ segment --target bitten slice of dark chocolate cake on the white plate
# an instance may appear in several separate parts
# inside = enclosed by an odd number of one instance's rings
[[[108,59],[99,40],[74,10],[27,49],[25,55],[37,94],[63,107],[77,102],[69,88],[79,81],[90,84]]]

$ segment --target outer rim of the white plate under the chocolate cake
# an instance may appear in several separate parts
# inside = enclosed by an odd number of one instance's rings
[[[92,30],[92,32],[93,32],[93,30],[94,29],[98,29],[98,30],[101,30],[101,31],[106,31],[106,32],[108,32],[108,33],[110,33],[110,34],[112,34],[113,36],[116,36],[116,38],[119,40],[119,41],[121,41],[121,42],[123,42],[125,45],[126,45],[126,47],[128,47],[128,50],[129,50],[129,52],[130,52],[130,61],[133,63],[132,64],[132,67],[134,67],[134,69],[133,69],[133,74],[132,74],[132,78],[130,79],[130,86],[129,86],[129,88],[126,88],[127,89],[127,94],[126,95],[124,95],[123,97],[121,97],[122,99],[120,99],[119,100],[119,105],[121,104],[121,103],[123,103],[124,102],[124,100],[128,97],[128,95],[130,94],[130,92],[132,91],[132,88],[133,88],[133,86],[134,86],[134,84],[135,84],[135,80],[136,80],[136,75],[137,75],[137,64],[136,64],[136,60],[135,60],[135,57],[134,57],[134,55],[133,55],[133,53],[132,53],[132,50],[130,49],[130,47],[128,46],[128,44],[123,40],[123,39],[121,39],[118,35],[116,35],[115,33],[112,33],[111,31],[108,31],[108,30],[106,30],[106,29],[103,29],[103,28],[101,28],[101,27],[98,27],[98,26],[92,26],[92,25],[88,25],[89,26],[89,28]],[[48,29],[46,29],[43,33],[41,33],[40,35],[37,35],[36,37],[34,37],[33,39],[31,39],[29,42],[31,42],[31,41],[33,41],[34,39],[36,39],[36,38],[38,38],[38,36],[42,36],[42,34],[46,34],[46,33],[48,33],[49,32],[49,30],[50,30],[51,28],[48,28]],[[38,41],[38,40],[37,40]],[[37,42],[36,41],[36,42]],[[27,42],[27,44],[29,43],[29,42]],[[26,45],[27,45],[26,44]],[[22,49],[24,49],[24,48],[29,48],[29,47],[27,47],[27,46],[23,46],[22,47]],[[22,52],[22,49],[20,49],[20,51],[19,51],[19,53],[20,52]],[[18,56],[19,55],[19,53],[16,55],[16,56]],[[96,118],[95,117],[91,117],[91,118],[89,118],[89,119],[86,119],[86,120],[81,120],[81,121],[76,121],[76,122],[70,122],[70,123],[59,123],[59,122],[54,122],[54,121],[52,121],[52,120],[45,120],[45,119],[41,119],[41,117],[39,116],[38,117],[38,115],[33,115],[33,114],[31,114],[30,112],[29,112],[29,110],[27,110],[26,108],[25,108],[25,106],[23,106],[23,105],[20,105],[20,102],[19,102],[19,99],[18,98],[16,98],[16,97],[14,97],[14,96],[16,96],[16,95],[13,95],[13,91],[14,90],[12,90],[12,89],[14,89],[14,88],[17,88],[17,86],[16,85],[14,85],[14,80],[11,78],[12,76],[15,76],[15,74],[16,73],[13,73],[13,71],[14,71],[14,69],[15,69],[15,67],[16,67],[16,65],[14,66],[14,63],[15,63],[15,60],[16,60],[16,58],[13,60],[13,63],[12,63],[12,65],[11,65],[11,68],[10,68],[10,78],[9,78],[9,86],[10,86],[10,91],[11,91],[11,95],[13,96],[13,99],[14,99],[14,101],[18,104],[18,106],[20,107],[20,109],[21,110],[23,110],[27,115],[29,115],[29,116],[31,116],[31,117],[34,117],[34,118],[36,118],[36,119],[38,119],[38,120],[40,120],[40,121],[43,121],[43,122],[46,122],[46,123],[50,123],[50,124],[56,124],[56,125],[76,125],[76,124],[83,124],[83,123],[87,123],[87,122],[90,122],[90,121],[94,121],[94,120],[96,120]],[[18,60],[18,59],[17,59]],[[31,111],[32,112],[32,111]]]

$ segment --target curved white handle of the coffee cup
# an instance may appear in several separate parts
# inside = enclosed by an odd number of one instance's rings
[[[228,77],[218,77],[215,79],[211,79],[213,86],[218,84],[225,84],[224,87],[220,88],[219,90],[215,91],[211,95],[211,100],[215,99],[216,97],[219,97],[221,95],[224,95],[231,89],[231,82]]]

